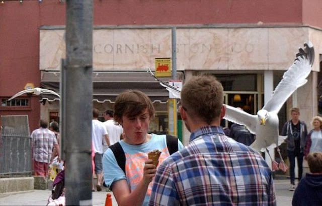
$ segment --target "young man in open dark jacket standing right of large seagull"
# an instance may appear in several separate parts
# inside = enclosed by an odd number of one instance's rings
[[[287,121],[281,135],[287,136],[287,156],[290,162],[290,191],[295,190],[295,158],[297,159],[298,181],[303,174],[304,147],[307,138],[307,127],[304,121],[299,120],[300,110],[297,107],[291,109],[292,119]]]

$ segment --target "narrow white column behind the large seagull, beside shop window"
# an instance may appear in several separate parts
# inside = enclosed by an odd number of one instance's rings
[[[274,85],[273,85],[273,71],[272,70],[266,70],[264,71],[264,105],[268,102],[268,100],[271,97],[271,94],[273,93],[274,90]],[[274,149],[270,149],[269,153],[271,157],[274,159],[275,154],[274,154]],[[265,161],[269,165],[269,167],[272,169],[272,161],[265,151]]]

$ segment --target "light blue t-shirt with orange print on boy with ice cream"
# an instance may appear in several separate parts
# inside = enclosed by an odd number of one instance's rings
[[[125,154],[125,171],[117,164],[116,158],[109,148],[103,155],[103,173],[105,184],[110,187],[113,182],[120,179],[126,179],[130,185],[130,190],[134,190],[143,178],[144,162],[148,159],[147,153],[158,149],[161,151],[159,164],[170,154],[167,148],[166,135],[151,134],[151,139],[141,145],[130,145],[123,140],[119,141]],[[178,140],[178,150],[183,148],[182,143]],[[150,183],[143,205],[147,205],[152,191],[152,182]]]

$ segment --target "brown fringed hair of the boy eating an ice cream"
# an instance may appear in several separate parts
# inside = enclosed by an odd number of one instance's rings
[[[127,90],[116,97],[114,120],[120,123],[123,116],[136,117],[145,109],[148,110],[150,119],[153,119],[155,109],[150,98],[139,90]]]

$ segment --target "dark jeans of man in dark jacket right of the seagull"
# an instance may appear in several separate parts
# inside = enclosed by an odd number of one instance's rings
[[[288,159],[290,161],[290,179],[291,184],[295,184],[295,157],[297,159],[297,167],[298,167],[298,181],[302,179],[303,174],[303,156],[304,153],[298,150],[287,150]]]

